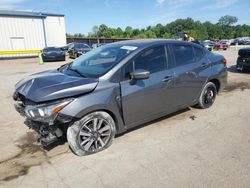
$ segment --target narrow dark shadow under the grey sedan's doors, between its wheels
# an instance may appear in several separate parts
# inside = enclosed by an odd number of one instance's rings
[[[165,115],[165,116],[160,117],[160,118],[158,118],[158,119],[149,121],[149,122],[147,122],[147,123],[143,123],[143,124],[141,124],[141,125],[138,125],[138,126],[136,126],[136,127],[133,127],[133,128],[128,129],[128,130],[127,130],[126,132],[124,132],[124,133],[121,133],[121,134],[116,135],[115,138],[118,138],[118,137],[123,136],[123,135],[125,135],[125,134],[127,134],[127,133],[130,133],[130,132],[133,132],[133,131],[135,131],[135,130],[141,129],[141,128],[146,127],[146,126],[148,126],[148,125],[151,125],[151,124],[160,122],[160,121],[162,121],[162,120],[166,120],[166,119],[168,119],[168,118],[171,118],[171,117],[180,115],[180,114],[182,114],[182,113],[184,113],[184,112],[187,112],[187,111],[190,111],[190,110],[191,110],[191,109],[190,109],[189,107],[188,107],[188,108],[184,108],[184,109],[182,109],[182,110],[179,110],[179,111],[177,111],[177,112],[173,112],[173,113],[171,113],[171,114]],[[190,118],[194,120],[196,117],[195,117],[195,116],[190,116]]]

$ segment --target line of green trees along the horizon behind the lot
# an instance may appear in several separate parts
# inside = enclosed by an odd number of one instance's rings
[[[94,26],[87,36],[83,34],[67,34],[68,37],[99,37],[99,38],[178,38],[179,33],[187,33],[196,40],[233,39],[250,36],[250,26],[237,24],[238,18],[222,16],[216,24],[209,21],[194,21],[192,18],[177,19],[166,25],[157,24],[147,28],[127,26],[112,28],[105,24]]]

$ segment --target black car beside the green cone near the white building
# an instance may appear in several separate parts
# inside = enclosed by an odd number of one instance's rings
[[[65,52],[61,48],[47,47],[42,50],[43,61],[65,61]]]

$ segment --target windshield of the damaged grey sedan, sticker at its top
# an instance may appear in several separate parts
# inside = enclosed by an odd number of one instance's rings
[[[81,75],[98,78],[135,49],[135,46],[116,44],[101,46],[77,58],[70,68],[77,70]]]

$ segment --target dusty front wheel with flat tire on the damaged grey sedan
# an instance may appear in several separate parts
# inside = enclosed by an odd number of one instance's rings
[[[106,112],[97,111],[70,126],[67,130],[67,140],[73,153],[83,156],[108,148],[115,133],[113,118]]]

